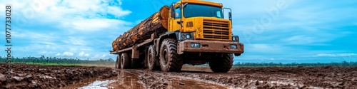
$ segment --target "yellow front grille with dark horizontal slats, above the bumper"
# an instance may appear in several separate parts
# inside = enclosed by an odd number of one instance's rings
[[[230,39],[229,21],[203,20],[203,38],[227,41]]]

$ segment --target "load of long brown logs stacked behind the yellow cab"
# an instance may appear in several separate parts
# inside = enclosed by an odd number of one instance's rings
[[[138,25],[116,38],[112,43],[113,51],[119,51],[142,43],[146,39],[151,38],[152,33],[160,34],[166,32],[168,18],[169,6],[163,6],[160,11],[149,16],[148,19],[141,21]]]

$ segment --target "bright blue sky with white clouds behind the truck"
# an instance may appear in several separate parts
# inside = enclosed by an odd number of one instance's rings
[[[209,1],[233,11],[233,34],[245,44],[235,62],[357,61],[357,1]],[[0,7],[12,6],[14,57],[96,60],[115,58],[109,50],[117,36],[172,2],[176,0],[1,0]],[[0,24],[5,24],[4,9],[0,12]],[[0,41],[5,49],[5,38]]]

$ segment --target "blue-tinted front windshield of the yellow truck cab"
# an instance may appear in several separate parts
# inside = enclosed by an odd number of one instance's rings
[[[223,18],[222,9],[220,7],[201,4],[187,4],[183,9],[183,16],[186,18],[195,16]]]

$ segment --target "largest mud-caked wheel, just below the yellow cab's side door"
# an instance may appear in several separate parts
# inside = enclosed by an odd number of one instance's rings
[[[183,60],[178,58],[176,44],[176,40],[172,38],[166,38],[161,43],[159,63],[164,72],[180,71],[183,66]]]

